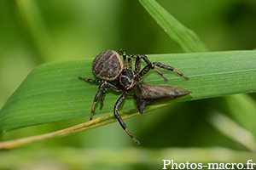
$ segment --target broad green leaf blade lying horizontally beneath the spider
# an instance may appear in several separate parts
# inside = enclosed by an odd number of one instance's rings
[[[193,93],[167,103],[256,92],[256,51],[158,54],[148,55],[148,59],[172,65],[190,78],[185,80],[175,72],[163,69],[160,71],[169,82],[155,71],[143,76],[148,83],[170,84]],[[99,84],[84,82],[79,77],[96,79],[92,61],[68,60],[35,68],[0,111],[0,131],[6,133],[20,127],[90,116]],[[118,93],[107,92],[103,109],[96,105],[96,115],[113,112],[119,96]],[[119,111],[127,110],[137,111],[131,96],[119,108]]]

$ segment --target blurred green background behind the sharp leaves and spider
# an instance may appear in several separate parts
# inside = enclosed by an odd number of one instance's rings
[[[256,47],[256,1],[158,2],[195,31],[211,51]],[[37,65],[94,58],[103,50],[118,48],[127,54],[182,53],[136,0],[0,1],[0,108]],[[255,107],[255,97],[242,94],[236,100],[224,97],[179,103],[125,120],[140,146],[115,122],[2,150],[0,169],[161,169],[163,159],[244,164],[252,159],[255,163],[253,134],[229,118],[241,101]],[[218,118],[223,118],[223,124],[216,124]],[[26,127],[6,133],[3,140],[49,133],[87,119]],[[225,132],[235,127],[241,130],[242,141]]]

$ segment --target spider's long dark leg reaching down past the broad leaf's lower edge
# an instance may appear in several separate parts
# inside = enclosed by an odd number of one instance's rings
[[[140,142],[134,138],[134,136],[128,131],[126,125],[125,125],[125,122],[123,121],[123,119],[121,118],[121,116],[119,116],[118,114],[118,109],[119,109],[119,106],[122,105],[122,103],[124,102],[125,100],[125,97],[126,97],[126,94],[127,92],[124,92],[120,97],[119,99],[117,100],[116,104],[114,105],[114,108],[113,108],[113,114],[115,116],[115,118],[119,121],[121,127],[124,128],[125,132],[129,134],[129,136],[131,136],[131,139],[133,139],[137,144],[140,144]]]

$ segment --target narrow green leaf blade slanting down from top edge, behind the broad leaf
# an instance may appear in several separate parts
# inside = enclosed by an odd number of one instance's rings
[[[156,23],[185,53],[206,52],[207,47],[194,31],[189,30],[154,0],[140,0]]]

